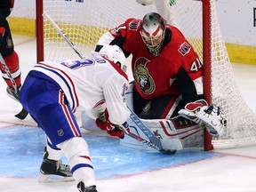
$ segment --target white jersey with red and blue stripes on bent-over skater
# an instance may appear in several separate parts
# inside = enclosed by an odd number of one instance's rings
[[[128,77],[115,63],[104,58],[43,61],[32,70],[40,71],[60,84],[73,112],[79,106],[96,119],[108,108],[109,121],[123,124],[130,116],[124,95]]]

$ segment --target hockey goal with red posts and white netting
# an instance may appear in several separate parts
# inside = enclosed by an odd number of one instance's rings
[[[204,94],[209,103],[223,108],[228,124],[218,139],[204,131],[204,149],[236,148],[256,143],[256,116],[246,105],[221,36],[215,0],[177,0],[165,6],[165,19],[175,25],[193,45],[204,63]],[[52,25],[43,19],[50,15],[76,48],[91,57],[100,36],[128,18],[140,18],[157,12],[156,5],[142,6],[135,0],[37,0],[37,60],[61,61],[79,58]],[[171,22],[171,21],[170,21]]]

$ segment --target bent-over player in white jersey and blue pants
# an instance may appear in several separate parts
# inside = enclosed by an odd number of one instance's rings
[[[49,173],[49,161],[53,162],[55,171],[61,166],[65,168],[63,164],[56,165],[63,153],[68,157],[78,190],[97,192],[88,146],[81,137],[74,113],[80,107],[98,120],[100,129],[123,138],[124,132],[115,125],[124,124],[130,116],[124,102],[128,86],[125,69],[122,50],[107,45],[95,59],[43,61],[29,71],[20,90],[20,102],[48,138],[41,172]],[[104,123],[99,121],[102,113],[107,117]]]

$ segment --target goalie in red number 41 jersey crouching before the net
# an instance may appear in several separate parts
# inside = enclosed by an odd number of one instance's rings
[[[203,63],[178,28],[166,24],[158,13],[149,12],[143,20],[130,18],[110,29],[100,37],[95,51],[105,44],[118,45],[126,57],[132,54],[133,110],[140,118],[202,120],[208,108]],[[216,115],[218,125],[211,124],[209,117],[206,123],[214,127],[210,133],[219,136],[227,122],[220,108],[214,108],[207,113]]]

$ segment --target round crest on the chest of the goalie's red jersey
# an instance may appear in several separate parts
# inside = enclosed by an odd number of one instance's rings
[[[145,58],[140,58],[135,62],[135,81],[140,84],[140,89],[146,94],[151,94],[156,89],[156,84],[154,83],[152,77],[148,73],[148,68],[146,64],[149,60]]]

